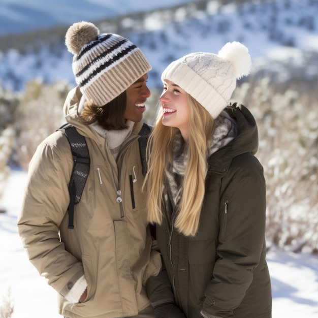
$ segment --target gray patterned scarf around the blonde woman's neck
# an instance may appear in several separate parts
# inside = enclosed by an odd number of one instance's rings
[[[227,112],[222,111],[214,120],[214,132],[211,143],[208,146],[208,156],[226,146],[236,135],[237,126],[235,121]],[[164,189],[165,199],[167,199],[168,194],[173,199],[173,208],[181,199],[182,183],[187,161],[188,146],[181,134],[178,133],[173,142],[173,163],[172,165],[168,164],[167,167],[168,188]]]

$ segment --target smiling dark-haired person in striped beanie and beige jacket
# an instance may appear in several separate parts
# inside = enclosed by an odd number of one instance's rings
[[[161,257],[152,250],[138,142],[151,66],[128,39],[89,22],[73,24],[66,45],[78,86],[65,118],[85,137],[90,171],[68,229],[72,152],[62,132],[46,138],[29,166],[19,234],[58,293],[59,314],[153,317],[145,282],[160,272]]]

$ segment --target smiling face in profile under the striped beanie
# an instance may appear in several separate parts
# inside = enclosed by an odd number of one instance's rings
[[[134,122],[142,120],[143,112],[146,110],[144,103],[150,96],[150,90],[146,85],[147,79],[146,73],[126,89],[126,109],[123,114],[125,120]]]

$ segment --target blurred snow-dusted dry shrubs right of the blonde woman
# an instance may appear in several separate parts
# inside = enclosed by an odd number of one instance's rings
[[[258,123],[256,155],[267,182],[268,245],[317,252],[317,99],[297,90],[300,86],[294,82],[286,88],[269,77],[254,78],[234,98],[246,104]]]

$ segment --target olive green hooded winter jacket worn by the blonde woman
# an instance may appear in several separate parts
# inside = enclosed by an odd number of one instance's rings
[[[198,233],[178,234],[172,210],[156,226],[166,270],[149,278],[148,296],[153,305],[174,301],[188,318],[202,317],[201,311],[208,317],[271,317],[257,125],[244,106],[235,106],[226,111],[236,121],[237,137],[208,158]]]

